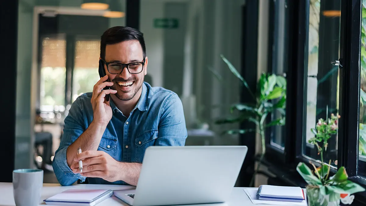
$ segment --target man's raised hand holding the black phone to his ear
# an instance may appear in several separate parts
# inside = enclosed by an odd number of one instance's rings
[[[100,126],[107,126],[112,119],[112,108],[109,101],[105,101],[105,95],[115,94],[116,90],[103,89],[104,87],[111,87],[113,82],[108,82],[108,75],[100,78],[94,85],[93,95],[91,97],[91,106],[93,107],[93,122]],[[102,90],[103,89],[103,90]]]

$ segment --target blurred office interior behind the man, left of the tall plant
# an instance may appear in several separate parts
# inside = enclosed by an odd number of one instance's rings
[[[19,0],[15,168],[53,175],[68,109],[99,79],[100,36],[109,27],[126,26],[128,15],[145,37],[146,81],[171,89],[183,102],[186,145],[239,145],[238,135],[221,135],[238,124],[214,122],[240,100],[240,81],[220,55],[240,70],[244,3]]]

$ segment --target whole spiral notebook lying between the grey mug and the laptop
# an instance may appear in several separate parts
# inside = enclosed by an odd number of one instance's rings
[[[94,206],[111,197],[112,190],[70,189],[44,200],[47,205]]]

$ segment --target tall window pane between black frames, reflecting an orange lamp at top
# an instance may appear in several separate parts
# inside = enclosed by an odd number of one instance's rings
[[[307,54],[306,129],[303,136],[303,155],[320,160],[317,147],[309,144],[314,137],[318,119],[338,114],[339,68],[332,61],[339,59],[340,0],[311,0]],[[324,161],[337,160],[337,136],[328,140]]]

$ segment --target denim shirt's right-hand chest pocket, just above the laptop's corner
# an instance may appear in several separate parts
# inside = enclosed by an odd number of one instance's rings
[[[158,130],[151,129],[141,133],[135,139],[136,145],[136,156],[135,161],[142,162],[143,155],[145,154],[145,150],[149,146],[153,146],[155,144],[155,140],[158,138]]]

